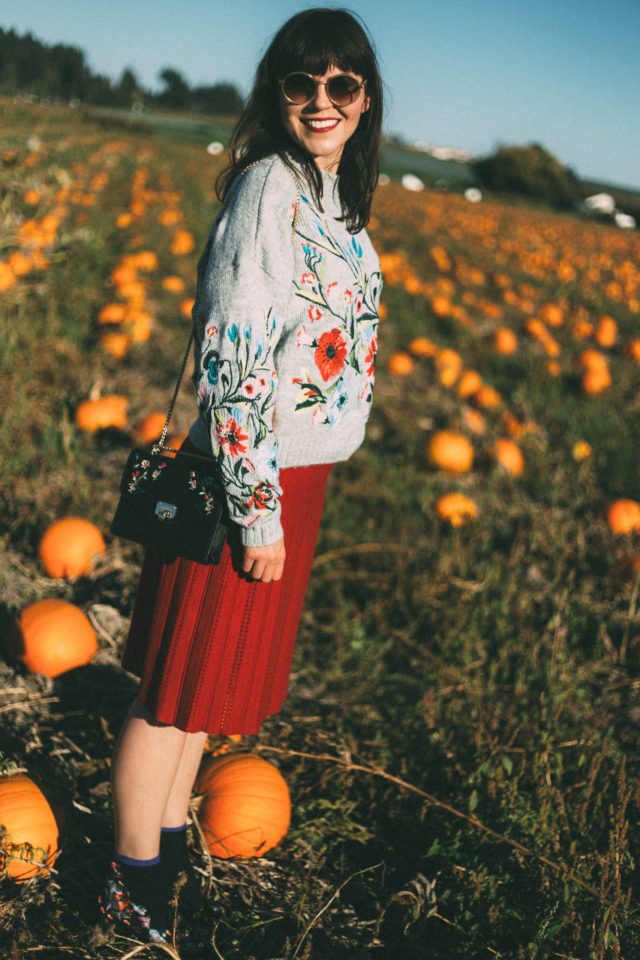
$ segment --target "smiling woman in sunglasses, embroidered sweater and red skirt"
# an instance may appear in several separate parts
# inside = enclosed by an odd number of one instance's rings
[[[141,684],[113,760],[101,905],[146,939],[169,937],[207,734],[257,733],[286,696],[325,483],[364,436],[380,294],[364,227],[381,120],[362,26],[306,10],[259,64],[218,184],[188,442],[217,459],[233,534],[216,567],[145,558],[124,659]]]

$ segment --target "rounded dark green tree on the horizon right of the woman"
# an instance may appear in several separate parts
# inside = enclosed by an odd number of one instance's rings
[[[497,193],[519,193],[554,207],[572,208],[578,200],[578,179],[537,143],[503,146],[472,164],[478,181]]]

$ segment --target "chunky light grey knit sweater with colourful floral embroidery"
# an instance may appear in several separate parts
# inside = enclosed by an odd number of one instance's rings
[[[217,457],[245,545],[282,536],[279,469],[346,460],[371,405],[378,257],[336,219],[337,177],[323,173],[323,212],[298,184],[299,202],[277,156],[250,167],[198,264],[189,436]]]

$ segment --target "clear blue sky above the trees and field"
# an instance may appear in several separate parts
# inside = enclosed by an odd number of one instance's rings
[[[0,26],[81,47],[93,70],[164,66],[246,94],[300,0],[21,0]],[[339,3],[328,3],[339,6]],[[473,154],[541,143],[584,177],[640,187],[640,0],[352,0],[388,93],[385,129]]]

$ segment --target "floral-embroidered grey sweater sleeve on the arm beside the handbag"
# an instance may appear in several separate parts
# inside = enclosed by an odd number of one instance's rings
[[[276,158],[236,181],[198,264],[194,383],[229,515],[247,546],[280,539],[274,352],[293,291],[296,187]]]

